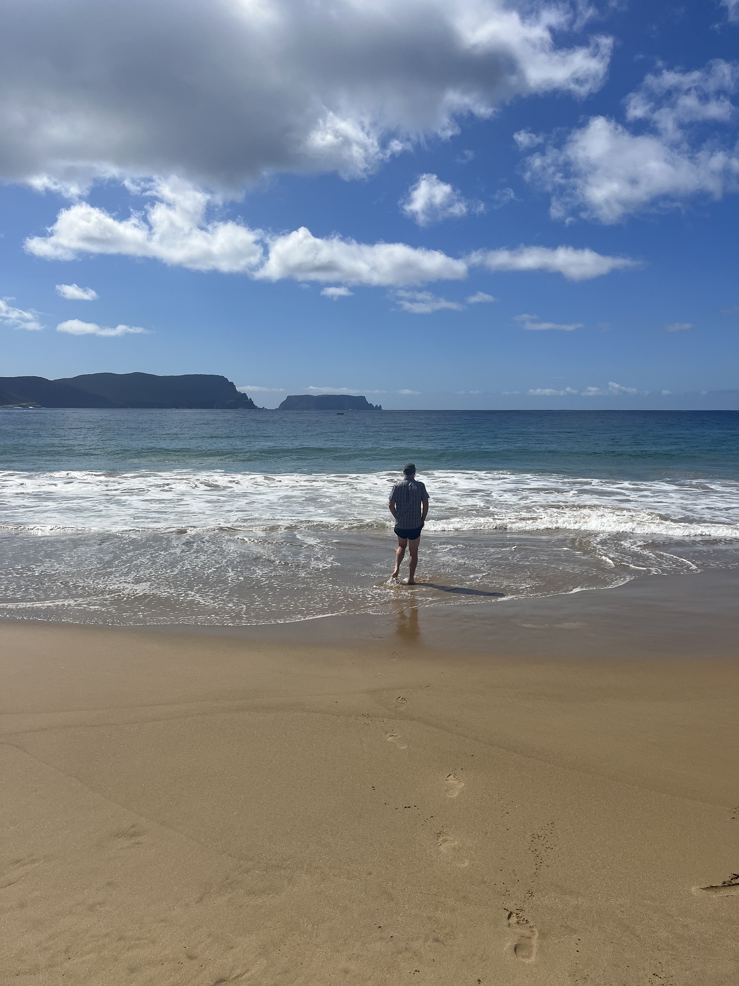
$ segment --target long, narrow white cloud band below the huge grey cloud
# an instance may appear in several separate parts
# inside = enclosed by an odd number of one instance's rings
[[[127,219],[116,219],[88,202],[62,209],[48,235],[30,238],[26,248],[48,260],[72,260],[81,253],[117,253],[268,281],[391,288],[463,280],[471,266],[492,271],[545,270],[578,281],[633,264],[624,257],[572,246],[517,246],[479,250],[458,258],[423,246],[314,237],[305,227],[275,236],[233,220],[209,221],[211,197],[183,182],[153,182],[148,193],[153,198],[149,207]]]

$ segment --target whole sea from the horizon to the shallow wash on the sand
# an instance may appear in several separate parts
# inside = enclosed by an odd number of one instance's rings
[[[431,497],[415,590],[387,585],[407,460]],[[739,413],[0,410],[0,544],[1,615],[122,625],[736,567]]]

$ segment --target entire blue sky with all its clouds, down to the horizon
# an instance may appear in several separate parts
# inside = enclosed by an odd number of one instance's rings
[[[30,0],[9,22],[3,376],[739,405],[736,0]]]

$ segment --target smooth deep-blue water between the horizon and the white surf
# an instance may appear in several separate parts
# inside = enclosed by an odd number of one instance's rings
[[[739,477],[734,411],[0,411],[0,468]]]

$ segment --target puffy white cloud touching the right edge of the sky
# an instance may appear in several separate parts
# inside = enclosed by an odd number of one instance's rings
[[[693,72],[648,75],[626,100],[633,132],[606,116],[572,130],[524,164],[526,179],[552,194],[552,216],[617,223],[660,205],[679,206],[698,194],[718,199],[739,189],[739,154],[700,128],[736,118],[728,99],[739,66],[721,59]]]

